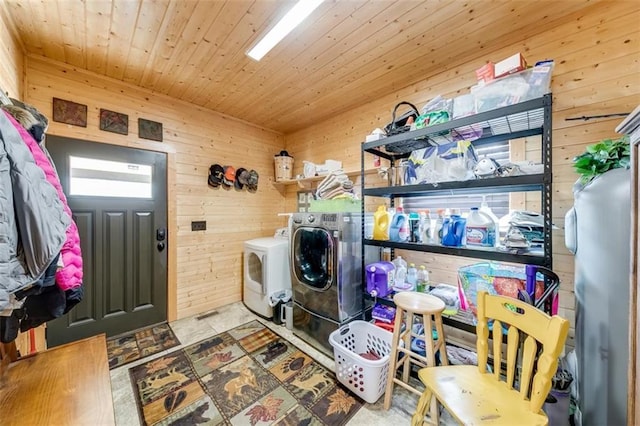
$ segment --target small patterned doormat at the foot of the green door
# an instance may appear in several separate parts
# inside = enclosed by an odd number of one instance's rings
[[[180,341],[167,323],[153,325],[107,339],[109,369],[178,346]]]

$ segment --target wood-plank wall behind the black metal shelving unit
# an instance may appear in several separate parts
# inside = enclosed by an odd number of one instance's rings
[[[564,215],[573,204],[572,185],[577,175],[571,167],[575,155],[588,144],[616,137],[614,128],[622,118],[590,121],[565,121],[567,117],[631,112],[640,103],[640,3],[620,1],[597,4],[571,15],[555,28],[542,33],[524,34],[522,41],[484,51],[475,57],[453,59],[450,67],[423,82],[403,87],[398,76],[397,93],[346,111],[313,127],[286,135],[286,148],[296,159],[294,173],[302,170],[302,160],[322,163],[341,160],[347,170],[360,168],[360,143],[376,127],[391,118],[393,106],[408,100],[419,107],[437,95],[454,97],[468,93],[475,84],[474,70],[487,60],[499,61],[522,52],[529,63],[552,58],[553,73],[553,232],[554,270],[562,279],[560,314],[573,324],[573,256],[564,246]],[[529,141],[530,155],[537,155],[539,141]],[[539,154],[538,154],[539,155]],[[366,167],[372,159],[366,158]],[[295,191],[288,187],[287,209],[295,210]],[[539,195],[528,195],[528,207],[539,203]],[[455,283],[457,268],[473,260],[451,256],[407,253],[414,261],[428,264],[432,279]],[[572,345],[572,342],[569,342]]]

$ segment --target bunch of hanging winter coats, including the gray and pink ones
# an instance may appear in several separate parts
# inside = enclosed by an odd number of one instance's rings
[[[44,147],[48,120],[19,101],[0,109],[0,341],[82,300],[78,228]]]

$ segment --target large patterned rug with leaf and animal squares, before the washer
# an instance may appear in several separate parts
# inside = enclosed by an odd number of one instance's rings
[[[129,372],[147,425],[343,425],[363,405],[258,321]]]

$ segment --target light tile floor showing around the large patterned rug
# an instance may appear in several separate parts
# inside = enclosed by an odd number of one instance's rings
[[[190,345],[207,337],[232,329],[240,324],[257,319],[311,355],[326,368],[334,371],[333,359],[298,339],[284,326],[275,325],[271,321],[253,314],[242,302],[224,306],[217,309],[216,312],[217,314],[202,319],[191,317],[172,322],[171,327],[181,342],[181,346],[179,347]],[[135,396],[133,393],[133,386],[129,379],[129,368],[161,355],[165,355],[171,351],[175,351],[179,347],[168,349],[164,352],[155,354],[154,356],[111,370],[111,390],[113,395],[116,424],[121,426],[140,424]],[[355,416],[353,416],[348,424],[367,426],[409,424],[411,415],[413,414],[418,401],[417,396],[402,389],[400,386],[396,386],[394,389],[392,405],[388,411],[384,410],[382,407],[383,399],[384,398],[381,397],[375,404],[365,404],[364,407],[360,409]]]

